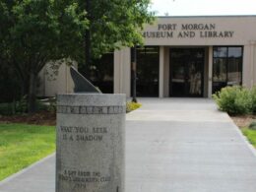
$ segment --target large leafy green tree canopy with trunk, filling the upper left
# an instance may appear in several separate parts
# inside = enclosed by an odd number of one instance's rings
[[[142,43],[150,0],[0,0],[0,61],[14,67],[34,111],[39,71],[48,61],[78,63]],[[87,13],[88,12],[88,13]],[[86,42],[86,43],[85,43]],[[86,51],[85,51],[86,50]]]

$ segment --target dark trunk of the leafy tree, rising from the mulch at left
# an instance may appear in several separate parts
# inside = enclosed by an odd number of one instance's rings
[[[30,90],[29,90],[29,101],[28,101],[28,112],[30,114],[35,112],[35,87],[36,87],[36,75],[30,72]]]

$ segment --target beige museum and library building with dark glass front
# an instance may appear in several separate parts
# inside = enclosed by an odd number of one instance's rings
[[[211,97],[225,86],[256,85],[256,16],[159,17],[137,46],[137,96]],[[132,96],[131,48],[107,53],[90,66],[102,93]],[[72,92],[67,70],[44,78],[44,96]],[[64,81],[65,80],[65,81]]]

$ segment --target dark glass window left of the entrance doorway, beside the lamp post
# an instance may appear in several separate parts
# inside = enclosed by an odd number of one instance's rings
[[[132,56],[132,55],[131,55]],[[159,96],[160,48],[137,47],[137,96]],[[133,88],[133,81],[131,81]],[[133,89],[131,93],[133,94]]]

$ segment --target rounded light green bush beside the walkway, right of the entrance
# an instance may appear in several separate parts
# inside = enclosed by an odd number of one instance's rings
[[[229,114],[249,114],[252,113],[252,94],[243,87],[226,87],[213,95],[219,109]]]

